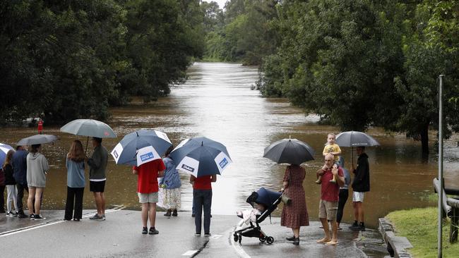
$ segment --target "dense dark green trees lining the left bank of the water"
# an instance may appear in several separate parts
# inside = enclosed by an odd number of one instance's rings
[[[198,0],[1,1],[0,121],[105,119],[182,82],[203,54]]]

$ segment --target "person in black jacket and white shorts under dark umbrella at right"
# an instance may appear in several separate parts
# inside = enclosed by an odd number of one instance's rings
[[[354,207],[354,223],[350,226],[352,231],[365,231],[364,223],[364,194],[370,191],[370,167],[365,147],[357,147],[357,168],[352,166],[354,180],[352,181],[352,206]],[[359,223],[360,222],[360,223]]]

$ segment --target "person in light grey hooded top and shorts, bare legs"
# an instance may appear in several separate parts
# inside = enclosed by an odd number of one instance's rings
[[[44,155],[40,153],[41,149],[41,144],[31,145],[27,155],[27,185],[29,188],[27,206],[31,220],[46,219],[40,214],[40,208],[49,164]]]

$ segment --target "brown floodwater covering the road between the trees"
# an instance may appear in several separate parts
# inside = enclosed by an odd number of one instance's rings
[[[264,187],[279,190],[285,165],[275,164],[263,158],[263,149],[271,142],[283,138],[297,138],[316,150],[314,161],[308,161],[304,190],[311,219],[318,218],[320,186],[314,183],[315,171],[323,165],[321,155],[327,133],[339,133],[339,128],[318,125],[318,117],[305,115],[287,102],[287,99],[267,99],[260,92],[251,90],[258,79],[256,67],[234,63],[195,63],[189,68],[189,79],[183,85],[172,86],[168,97],[153,104],[131,104],[112,109],[107,123],[119,136],[102,142],[109,151],[127,133],[140,128],[155,128],[169,136],[177,145],[186,137],[205,136],[227,146],[233,163],[218,176],[213,184],[213,214],[235,214],[237,209],[249,208],[246,197],[252,191]],[[44,132],[58,135],[54,145],[45,145],[51,170],[44,190],[44,209],[63,209],[66,199],[65,155],[71,140],[77,137],[59,132],[59,127],[44,123]],[[14,145],[23,137],[36,133],[36,128],[0,128],[0,142]],[[366,223],[376,227],[378,217],[390,211],[412,207],[436,205],[428,198],[433,192],[432,179],[437,175],[438,162],[434,150],[436,132],[430,133],[431,154],[422,159],[420,142],[404,135],[387,133],[381,128],[371,128],[372,135],[381,143],[369,147],[371,192],[364,199]],[[445,173],[448,184],[459,186],[457,147],[458,135],[445,142]],[[88,148],[91,149],[91,148]],[[90,151],[91,152],[91,151]],[[342,148],[346,167],[351,164],[351,149]],[[354,155],[354,163],[357,157]],[[136,195],[137,178],[131,167],[116,165],[109,156],[107,168],[107,206],[124,205],[138,209]],[[88,171],[86,171],[88,176]],[[191,210],[192,191],[189,176],[181,174],[181,209]],[[88,183],[85,188],[84,207],[95,207]],[[276,211],[275,214],[280,214]],[[435,219],[435,218],[432,218]],[[345,207],[343,221],[352,222],[352,195]]]

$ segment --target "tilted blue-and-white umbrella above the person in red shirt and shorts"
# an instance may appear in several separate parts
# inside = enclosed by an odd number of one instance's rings
[[[141,164],[161,159],[172,143],[165,133],[158,130],[137,130],[123,137],[111,154],[117,164]]]

